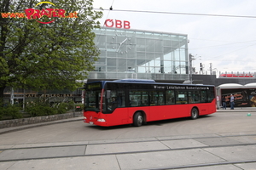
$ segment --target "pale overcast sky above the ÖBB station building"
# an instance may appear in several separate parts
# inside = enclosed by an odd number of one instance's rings
[[[107,19],[128,20],[131,29],[188,35],[196,72],[200,63],[207,74],[211,64],[217,73],[256,72],[255,0],[94,0],[93,7],[104,9],[101,26]]]

